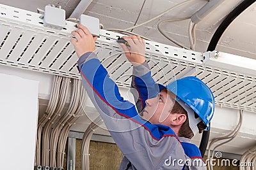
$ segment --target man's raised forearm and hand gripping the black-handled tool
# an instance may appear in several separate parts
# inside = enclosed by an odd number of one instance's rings
[[[156,97],[158,92],[155,89],[155,81],[151,76],[148,63],[145,61],[145,40],[140,36],[124,36],[131,48],[120,44],[127,59],[132,63],[131,92],[136,102],[136,107],[140,113],[145,108],[145,101]]]

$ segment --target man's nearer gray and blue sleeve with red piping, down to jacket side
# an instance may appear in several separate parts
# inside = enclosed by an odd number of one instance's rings
[[[141,120],[135,106],[120,96],[95,53],[85,53],[78,65],[84,89],[116,145],[136,169],[162,169],[169,157],[185,161],[184,150],[172,129]],[[147,84],[147,80],[144,81]],[[182,167],[175,164],[168,169]]]

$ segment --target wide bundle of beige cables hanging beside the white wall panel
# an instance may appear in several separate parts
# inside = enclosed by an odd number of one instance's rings
[[[72,88],[70,82],[73,82]],[[61,115],[67,103],[69,90],[72,90],[70,104],[67,111]],[[54,76],[45,115],[38,121],[35,166],[63,167],[68,132],[76,120],[84,114],[82,106],[86,101],[87,95],[81,86],[81,80]]]

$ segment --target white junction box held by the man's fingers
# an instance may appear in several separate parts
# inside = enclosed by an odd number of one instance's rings
[[[100,34],[100,20],[99,18],[91,17],[88,15],[81,15],[80,24],[86,26],[93,36],[99,36]]]

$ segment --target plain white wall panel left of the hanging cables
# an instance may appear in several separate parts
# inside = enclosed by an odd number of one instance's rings
[[[33,169],[38,81],[0,73],[1,169]]]

